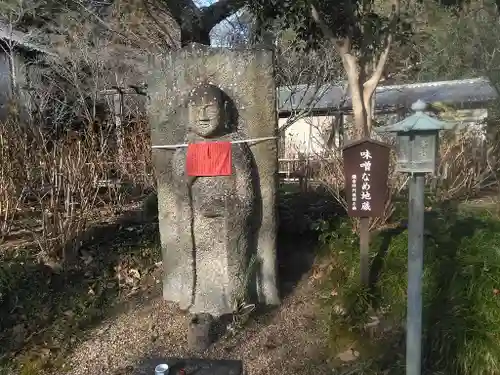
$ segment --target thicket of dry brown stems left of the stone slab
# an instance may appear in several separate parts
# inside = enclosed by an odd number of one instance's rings
[[[59,139],[17,122],[0,125],[0,245],[20,235],[39,255],[71,261],[89,222],[154,188],[147,124],[130,124],[124,161],[113,133]]]

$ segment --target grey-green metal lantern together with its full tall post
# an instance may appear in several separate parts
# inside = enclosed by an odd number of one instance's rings
[[[406,375],[421,375],[425,174],[435,174],[439,131],[448,128],[447,123],[425,114],[425,108],[426,104],[418,100],[412,105],[413,115],[375,129],[396,134],[396,171],[410,174]]]

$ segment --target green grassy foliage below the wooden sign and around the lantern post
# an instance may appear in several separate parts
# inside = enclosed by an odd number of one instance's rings
[[[424,367],[431,373],[497,374],[500,371],[500,222],[487,215],[440,209],[426,216],[426,229]],[[398,327],[402,327],[406,314],[406,231],[382,233],[372,241],[369,290],[359,287],[359,250],[353,236],[346,233],[343,237],[329,238],[337,264],[327,282],[328,290],[336,290],[328,305],[333,311],[333,306],[340,304],[345,311],[332,313],[332,327],[362,332],[369,316],[377,311],[384,320],[395,322],[395,335],[389,342],[401,340]],[[339,328],[332,331],[338,333]],[[394,354],[386,346],[381,348],[384,353],[375,356],[377,363],[387,352]],[[404,358],[402,351],[398,358]]]

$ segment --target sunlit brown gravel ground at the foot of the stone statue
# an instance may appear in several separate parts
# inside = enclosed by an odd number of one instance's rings
[[[249,375],[327,373],[314,301],[314,286],[306,275],[279,308],[256,317],[236,336],[219,340],[203,357],[241,359]],[[146,298],[89,332],[65,367],[73,375],[135,375],[147,358],[189,356],[187,321],[161,297]]]

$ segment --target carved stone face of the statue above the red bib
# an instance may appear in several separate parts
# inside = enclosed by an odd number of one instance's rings
[[[189,126],[201,137],[210,137],[224,128],[222,92],[214,86],[200,86],[188,102]]]

